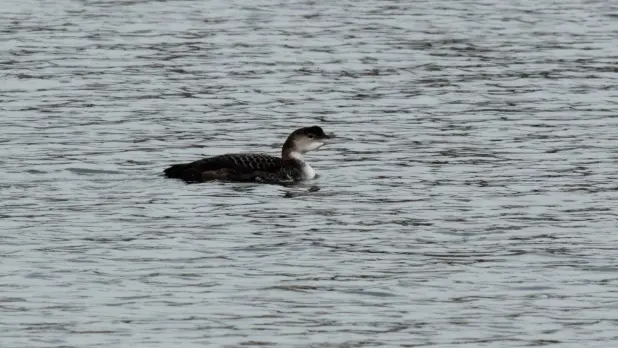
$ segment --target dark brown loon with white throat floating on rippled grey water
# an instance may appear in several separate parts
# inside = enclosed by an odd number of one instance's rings
[[[321,127],[304,127],[290,134],[281,149],[281,158],[261,153],[233,153],[208,157],[165,169],[165,176],[187,183],[212,180],[293,184],[311,180],[316,173],[303,154],[322,147],[333,135]]]

